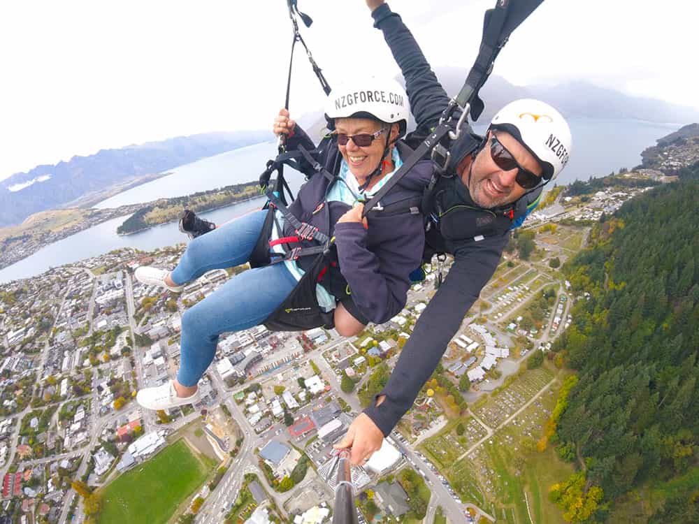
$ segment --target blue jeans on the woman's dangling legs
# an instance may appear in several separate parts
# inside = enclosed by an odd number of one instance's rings
[[[266,211],[228,222],[189,242],[171,278],[181,285],[212,269],[232,268],[250,259]],[[181,361],[177,379],[195,386],[213,361],[221,333],[261,324],[291,293],[296,279],[284,264],[250,269],[229,279],[219,289],[182,315]]]

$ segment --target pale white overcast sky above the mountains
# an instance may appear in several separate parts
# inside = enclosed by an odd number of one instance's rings
[[[516,1],[516,0],[512,0]],[[303,38],[333,85],[399,73],[363,0],[298,0]],[[394,0],[433,66],[475,59],[493,0]],[[699,3],[545,0],[494,74],[516,85],[586,80],[699,108]],[[284,103],[284,0],[0,2],[0,180],[42,163],[173,136],[271,129]],[[292,117],[324,94],[299,48]]]

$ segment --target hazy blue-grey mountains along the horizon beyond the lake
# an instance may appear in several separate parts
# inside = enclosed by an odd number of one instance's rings
[[[459,92],[466,78],[466,71],[459,68],[436,68],[435,73],[450,96]],[[481,90],[481,96],[486,108],[477,124],[488,122],[505,103],[520,98],[545,100],[568,118],[637,119],[677,124],[699,121],[699,110],[694,108],[628,96],[584,81],[522,87],[492,75]],[[322,111],[310,112],[298,119],[310,136],[318,137],[324,128]],[[139,176],[161,173],[270,138],[271,133],[267,131],[180,136],[121,149],[100,150],[87,157],[73,157],[53,166],[37,166],[27,173],[15,173],[0,182],[0,226],[17,224],[30,214],[58,208],[86,194]]]

